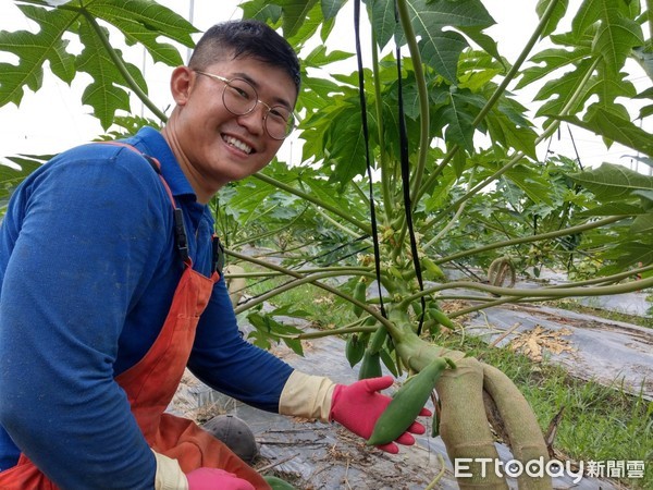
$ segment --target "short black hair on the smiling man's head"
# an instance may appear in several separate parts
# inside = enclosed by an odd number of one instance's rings
[[[229,21],[209,28],[195,46],[188,66],[206,70],[225,53],[256,58],[284,70],[299,93],[299,60],[293,47],[268,24],[255,20]]]

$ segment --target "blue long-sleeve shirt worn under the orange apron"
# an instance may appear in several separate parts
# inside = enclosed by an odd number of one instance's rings
[[[160,161],[195,269],[210,275],[208,208],[159,132],[127,142]],[[61,488],[152,488],[155,460],[113,378],[152,345],[181,274],[170,198],[136,152],[84,145],[25,180],[0,229],[0,469],[23,451]],[[292,372],[242,339],[223,280],[188,367],[271,412]]]

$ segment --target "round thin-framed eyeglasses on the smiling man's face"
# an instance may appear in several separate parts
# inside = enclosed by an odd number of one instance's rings
[[[268,106],[258,98],[254,85],[243,78],[225,78],[224,76],[195,70],[200,75],[219,79],[224,83],[222,102],[227,111],[234,115],[246,115],[252,112],[259,103],[268,111],[263,117],[263,126],[272,139],[285,139],[295,128],[295,117],[285,106]]]

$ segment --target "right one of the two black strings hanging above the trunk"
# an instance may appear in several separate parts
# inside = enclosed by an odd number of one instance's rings
[[[395,2],[395,22],[399,23],[399,14]],[[415,229],[412,225],[412,205],[410,203],[410,162],[408,160],[408,132],[406,131],[406,118],[404,113],[404,90],[402,86],[402,48],[397,42],[396,45],[396,59],[397,59],[397,91],[398,91],[398,117],[399,117],[399,156],[402,162],[402,186],[404,187],[404,208],[406,211],[406,224],[408,226],[408,235],[410,236],[410,253],[412,254],[412,265],[415,267],[415,274],[419,284],[419,291],[424,290],[424,283],[421,273],[421,266],[419,264],[419,255],[417,250],[417,240],[415,237]],[[421,334],[422,326],[424,322],[426,313],[426,301],[424,296],[420,296],[421,303],[421,315],[419,318],[419,326],[417,327],[417,334]]]

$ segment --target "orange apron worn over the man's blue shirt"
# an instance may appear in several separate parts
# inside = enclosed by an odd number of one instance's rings
[[[126,392],[132,414],[148,444],[158,453],[177,460],[184,473],[200,467],[222,468],[250,481],[257,489],[270,489],[266,480],[222,441],[193,420],[164,413],[184,375],[199,317],[213,284],[220,279],[217,272],[207,278],[195,271],[190,259],[185,264],[159,336],[145,357],[115,381]],[[57,490],[58,487],[21,454],[16,466],[0,473],[0,489]]]

